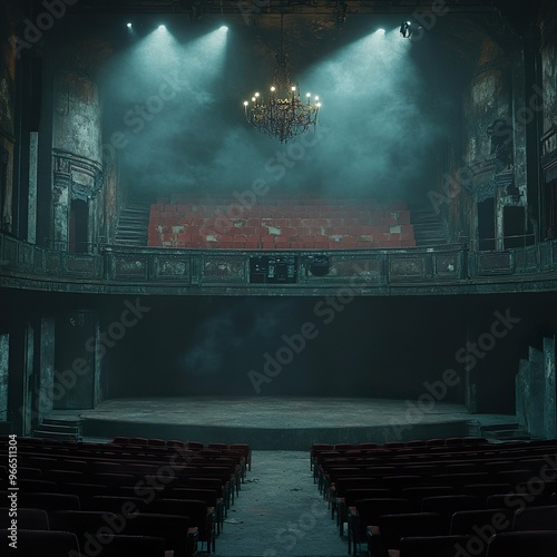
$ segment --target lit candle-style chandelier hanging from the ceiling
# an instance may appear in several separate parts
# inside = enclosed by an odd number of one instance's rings
[[[284,50],[283,22],[284,12],[281,3],[281,47],[275,55],[273,86],[266,98],[255,92],[251,102],[245,100],[244,113],[246,120],[257,131],[286,143],[305,133],[310,127],[315,129],[321,102],[319,96],[312,99],[310,92],[302,100],[299,88],[290,78],[287,55]]]

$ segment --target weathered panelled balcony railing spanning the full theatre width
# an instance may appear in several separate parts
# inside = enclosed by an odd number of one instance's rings
[[[0,286],[67,292],[322,295],[350,287],[354,295],[428,294],[512,280],[553,290],[556,272],[557,241],[487,252],[470,252],[466,243],[267,252],[104,245],[98,253],[72,253],[0,234]]]

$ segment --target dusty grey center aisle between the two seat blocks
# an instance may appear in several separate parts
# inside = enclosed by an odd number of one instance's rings
[[[215,556],[346,557],[346,539],[313,483],[309,451],[254,451],[252,460]]]

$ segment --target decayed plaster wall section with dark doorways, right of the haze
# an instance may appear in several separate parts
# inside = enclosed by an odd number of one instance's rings
[[[502,250],[511,246],[508,236],[516,237],[516,242],[532,241],[532,236],[528,236],[534,223],[528,218],[525,131],[525,124],[531,121],[531,110],[525,97],[521,47],[517,45],[504,51],[485,37],[478,52],[469,88],[463,94],[462,153],[461,157],[456,153],[452,157],[451,195],[447,196],[444,217],[453,241],[465,228],[472,250],[486,248],[478,243],[481,229],[478,203],[492,198],[494,247]],[[505,153],[499,156],[494,153],[498,141],[502,144],[501,149],[508,149],[506,157]],[[524,218],[514,214],[506,225],[506,207],[524,207]]]

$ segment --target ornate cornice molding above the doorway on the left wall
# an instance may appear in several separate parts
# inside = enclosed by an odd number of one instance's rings
[[[61,149],[52,149],[55,187],[70,190],[71,199],[94,199],[102,188],[99,163]]]

